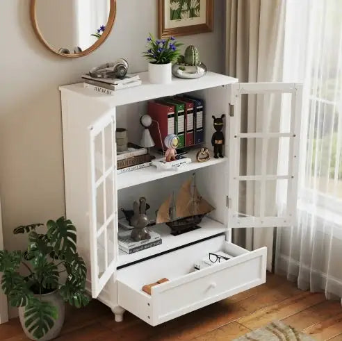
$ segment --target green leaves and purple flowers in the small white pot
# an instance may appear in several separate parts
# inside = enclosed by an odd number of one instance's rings
[[[153,64],[168,64],[177,61],[180,56],[179,47],[183,44],[181,42],[176,42],[174,37],[168,39],[158,40],[149,33],[149,38],[147,38],[146,49],[142,55]]]

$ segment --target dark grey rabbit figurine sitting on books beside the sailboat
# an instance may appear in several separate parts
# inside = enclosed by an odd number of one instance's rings
[[[133,203],[133,217],[131,217],[131,225],[134,227],[131,233],[131,238],[134,242],[140,240],[151,239],[149,231],[146,226],[149,224],[149,219],[146,215],[146,199],[141,197],[138,201]]]

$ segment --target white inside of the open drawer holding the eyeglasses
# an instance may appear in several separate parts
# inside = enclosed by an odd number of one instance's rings
[[[168,278],[172,281],[195,272],[194,265],[198,260],[202,259],[209,252],[217,251],[225,251],[234,257],[249,253],[249,251],[235,244],[225,242],[225,235],[219,235],[190,247],[120,269],[117,272],[117,279],[133,290],[142,292],[143,285],[154,283],[158,279]],[[231,260],[226,260],[225,262],[229,261]],[[215,266],[217,265],[212,265],[212,267]],[[145,294],[145,292],[142,293]],[[149,296],[148,294],[146,295]]]

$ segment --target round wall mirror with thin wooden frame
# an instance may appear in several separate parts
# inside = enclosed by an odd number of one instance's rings
[[[40,41],[60,56],[95,51],[111,33],[116,0],[31,0],[31,21]]]

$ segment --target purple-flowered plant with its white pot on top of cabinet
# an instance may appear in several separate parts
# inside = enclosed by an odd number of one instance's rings
[[[147,38],[146,49],[142,55],[149,61],[149,81],[154,84],[166,84],[172,81],[172,63],[180,56],[180,42],[174,37],[155,39],[152,34]]]

